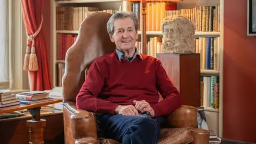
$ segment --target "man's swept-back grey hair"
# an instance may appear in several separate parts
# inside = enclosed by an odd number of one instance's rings
[[[121,12],[117,12],[117,13],[113,14],[109,18],[108,23],[107,23],[108,34],[110,34],[110,35],[114,34],[114,31],[115,31],[114,22],[115,22],[115,20],[117,20],[117,19],[125,19],[125,18],[131,18],[132,19],[132,21],[134,23],[134,26],[135,26],[135,31],[137,33],[139,20],[137,18],[136,13],[134,13],[134,12],[122,12],[121,11]]]

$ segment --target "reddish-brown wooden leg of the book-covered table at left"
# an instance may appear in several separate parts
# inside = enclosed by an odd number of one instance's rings
[[[33,116],[31,120],[27,121],[29,127],[29,143],[30,144],[43,144],[44,143],[44,127],[46,120],[40,118],[40,107],[28,109],[29,113]]]

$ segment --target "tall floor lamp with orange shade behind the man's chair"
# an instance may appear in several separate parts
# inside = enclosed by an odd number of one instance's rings
[[[123,0],[130,2],[140,2],[142,11],[142,27],[141,27],[141,47],[142,53],[147,54],[147,35],[146,35],[146,6],[147,2],[183,2],[183,0]],[[140,23],[141,23],[140,22]]]

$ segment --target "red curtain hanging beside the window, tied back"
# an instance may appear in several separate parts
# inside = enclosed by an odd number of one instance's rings
[[[42,21],[42,2],[44,0],[21,0],[23,20],[27,35],[33,35]],[[34,37],[38,70],[28,70],[31,91],[51,90],[49,62],[47,61],[46,42],[43,27]],[[31,53],[31,52],[29,52]],[[31,61],[31,60],[30,60]]]

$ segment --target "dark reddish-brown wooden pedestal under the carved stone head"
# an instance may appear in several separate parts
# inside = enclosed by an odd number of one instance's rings
[[[200,107],[200,54],[157,53],[182,97],[182,105]]]

